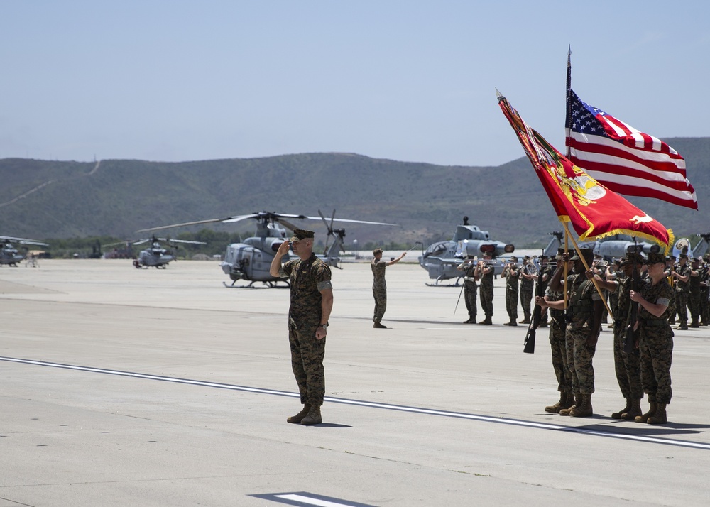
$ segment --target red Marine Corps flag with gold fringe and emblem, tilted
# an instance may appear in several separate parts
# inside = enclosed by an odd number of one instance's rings
[[[574,165],[520,118],[508,99],[498,105],[518,134],[535,174],[561,222],[570,222],[581,241],[612,234],[630,234],[660,244],[669,251],[673,233],[626,199],[601,185]]]

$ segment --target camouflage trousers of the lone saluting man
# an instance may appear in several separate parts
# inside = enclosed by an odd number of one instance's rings
[[[314,407],[323,404],[325,396],[325,338],[315,339],[316,320],[297,327],[288,323],[288,342],[291,348],[291,368],[296,378],[301,403]]]

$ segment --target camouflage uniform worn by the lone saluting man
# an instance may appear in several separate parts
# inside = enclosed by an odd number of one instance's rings
[[[294,259],[285,263],[281,276],[290,279],[288,341],[301,403],[320,407],[325,396],[323,358],[326,339],[316,339],[315,332],[322,312],[320,291],[332,288],[330,268],[312,254],[305,261]]]

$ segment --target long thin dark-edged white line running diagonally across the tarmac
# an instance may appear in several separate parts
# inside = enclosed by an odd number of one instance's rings
[[[291,393],[289,391],[277,391],[275,389],[265,389],[249,386],[237,386],[236,384],[229,383],[219,383],[219,382],[208,382],[208,381],[197,381],[190,378],[177,378],[177,377],[167,377],[160,375],[151,374],[139,374],[133,371],[121,371],[121,370],[109,370],[103,368],[94,368],[92,366],[77,366],[73,364],[62,364],[62,363],[52,363],[48,361],[35,361],[33,359],[19,359],[16,357],[5,357],[0,356],[0,361],[7,361],[11,363],[19,364],[31,364],[34,366],[48,366],[51,368],[69,369],[75,371],[87,371],[89,373],[96,374],[106,374],[106,375],[116,375],[129,378],[143,378],[145,380],[155,380],[163,382],[173,382],[182,383],[190,386],[202,386],[202,387],[213,387],[220,389],[229,389],[231,391],[243,391],[246,393],[260,393],[260,394],[273,394],[275,396],[288,396],[289,398],[300,398],[299,393]],[[592,435],[595,437],[608,437],[608,438],[618,438],[621,440],[633,440],[636,442],[649,442],[654,444],[663,445],[674,445],[679,447],[689,447],[692,449],[703,449],[710,450],[710,444],[705,444],[703,442],[692,442],[690,440],[673,440],[670,438],[660,438],[660,437],[648,437],[645,435],[629,435],[628,433],[620,432],[606,432],[601,430],[591,430],[586,427],[573,427],[573,426],[563,426],[555,425],[550,423],[535,423],[533,421],[526,421],[520,419],[506,419],[506,418],[496,418],[491,415],[477,415],[465,412],[452,412],[450,410],[435,410],[431,408],[420,408],[420,407],[410,407],[407,405],[393,405],[391,403],[378,403],[375,401],[364,401],[364,400],[351,400],[349,398],[334,398],[332,396],[326,396],[324,401],[330,403],[342,403],[344,405],[355,405],[368,408],[381,408],[384,410],[396,410],[398,412],[408,412],[417,413],[423,415],[438,415],[447,418],[458,418],[467,420],[482,421],[484,423],[497,423],[506,424],[514,426],[523,427],[534,427],[540,430],[556,430],[563,432],[579,433],[581,435]]]

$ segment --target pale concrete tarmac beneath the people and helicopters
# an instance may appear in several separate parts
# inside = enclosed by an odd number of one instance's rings
[[[564,418],[543,410],[547,329],[523,354],[503,280],[481,326],[419,266],[386,276],[373,329],[369,266],[334,270],[324,422],[304,427],[289,290],[224,288],[207,261],[0,268],[0,507],[710,505],[709,328],[676,331],[666,425],[610,418],[607,327],[595,415]]]

